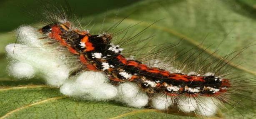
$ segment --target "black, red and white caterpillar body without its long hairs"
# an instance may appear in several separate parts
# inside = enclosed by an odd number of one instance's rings
[[[70,23],[55,23],[41,28],[50,39],[58,40],[61,45],[80,57],[87,69],[102,71],[113,82],[136,82],[148,94],[164,92],[169,96],[186,94],[196,96],[218,96],[226,92],[228,79],[214,74],[198,76],[168,72],[157,67],[148,67],[137,60],[127,60],[119,45],[110,43],[112,36],[107,33],[90,35],[86,31],[70,30]]]

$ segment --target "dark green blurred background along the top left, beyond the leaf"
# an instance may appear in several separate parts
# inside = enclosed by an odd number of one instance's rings
[[[31,24],[35,20],[30,19],[25,12],[26,10],[37,10],[40,7],[38,1],[44,0],[1,0],[0,1],[0,32],[9,32],[19,25]],[[49,0],[50,1],[50,0]],[[64,3],[64,0],[52,0]],[[75,15],[86,17],[99,14],[112,9],[131,5],[140,0],[67,0]]]

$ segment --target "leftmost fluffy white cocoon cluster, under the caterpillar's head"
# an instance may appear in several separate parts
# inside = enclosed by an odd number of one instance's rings
[[[59,87],[68,78],[70,70],[63,60],[48,53],[44,40],[38,40],[36,30],[30,26],[22,26],[17,30],[20,44],[9,44],[5,47],[10,62],[9,73],[18,79],[43,77],[50,85]]]

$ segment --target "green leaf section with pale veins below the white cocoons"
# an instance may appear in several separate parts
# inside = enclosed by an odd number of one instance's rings
[[[3,82],[8,85],[11,82]],[[13,82],[15,85],[15,82]],[[17,82],[16,82],[17,83]],[[28,118],[188,118],[154,109],[134,109],[116,102],[75,100],[60,94],[59,89],[44,84],[5,86],[0,89],[0,119]]]

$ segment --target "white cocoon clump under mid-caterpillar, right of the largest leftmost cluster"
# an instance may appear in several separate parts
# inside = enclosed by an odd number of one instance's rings
[[[67,80],[60,92],[74,97],[89,97],[90,99],[112,99],[117,94],[117,89],[108,83],[107,77],[100,72],[83,72],[73,80]]]

